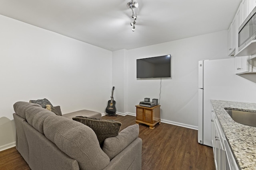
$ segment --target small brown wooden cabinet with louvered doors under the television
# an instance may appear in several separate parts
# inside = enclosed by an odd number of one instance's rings
[[[157,123],[161,123],[160,105],[154,107],[144,107],[136,105],[136,124],[144,123],[149,125],[150,129],[154,129]]]

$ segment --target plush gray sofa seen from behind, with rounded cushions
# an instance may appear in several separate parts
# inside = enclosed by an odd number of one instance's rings
[[[90,127],[70,118],[80,113],[60,116],[29,102],[16,102],[14,111],[16,149],[32,170],[141,169],[138,125],[105,139],[101,148]]]

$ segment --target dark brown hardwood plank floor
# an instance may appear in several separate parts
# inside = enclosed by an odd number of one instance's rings
[[[135,124],[136,117],[103,116],[120,121],[120,130]],[[212,147],[197,142],[197,131],[166,123],[155,129],[140,124],[142,170],[215,170]],[[0,170],[29,170],[28,164],[14,148],[0,152]]]

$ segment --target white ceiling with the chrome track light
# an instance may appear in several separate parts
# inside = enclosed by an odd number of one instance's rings
[[[0,14],[116,51],[228,29],[241,0],[0,0]],[[210,40],[209,40],[210,41]]]

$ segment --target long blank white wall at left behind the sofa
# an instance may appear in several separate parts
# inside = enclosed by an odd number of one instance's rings
[[[112,52],[0,15],[0,150],[15,141],[13,104],[47,98],[62,113],[105,112]]]

